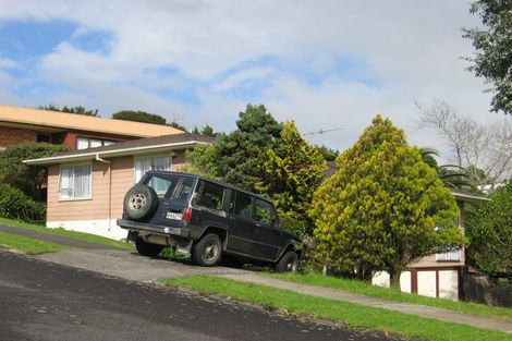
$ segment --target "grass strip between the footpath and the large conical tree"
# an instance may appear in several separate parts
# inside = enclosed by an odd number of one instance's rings
[[[417,294],[402,293],[389,288],[381,288],[371,285],[357,280],[349,280],[336,278],[331,276],[322,276],[320,273],[264,273],[266,276],[275,277],[282,280],[288,280],[302,284],[309,284],[316,287],[331,288],[337,290],[344,290],[366,296],[389,300],[394,302],[405,302],[411,304],[420,304],[431,307],[438,307],[459,313],[465,313],[483,317],[500,318],[512,321],[512,308],[488,306],[473,302],[455,302],[443,299],[432,299],[420,296]]]

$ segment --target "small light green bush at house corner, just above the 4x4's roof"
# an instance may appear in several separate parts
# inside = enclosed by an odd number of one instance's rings
[[[185,159],[186,163],[180,168],[180,171],[218,178],[217,149],[214,145],[196,145],[194,149],[186,151]]]

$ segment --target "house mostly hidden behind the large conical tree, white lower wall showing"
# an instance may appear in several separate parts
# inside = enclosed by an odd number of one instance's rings
[[[464,205],[489,198],[453,188],[451,192],[460,209],[459,227],[464,230]],[[402,292],[459,301],[464,297],[462,284],[464,267],[464,249],[434,254],[410,264],[407,270],[400,277],[400,287]],[[375,285],[389,287],[389,275],[378,273],[371,282]]]

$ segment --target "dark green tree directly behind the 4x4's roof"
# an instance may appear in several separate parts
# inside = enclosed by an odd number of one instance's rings
[[[263,105],[247,105],[239,115],[237,130],[218,136],[214,143],[218,175],[228,183],[254,191],[263,173],[264,153],[279,138],[281,124]]]

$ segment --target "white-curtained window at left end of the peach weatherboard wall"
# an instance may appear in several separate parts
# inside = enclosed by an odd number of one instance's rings
[[[61,200],[89,199],[90,171],[90,165],[61,167],[59,198]]]

